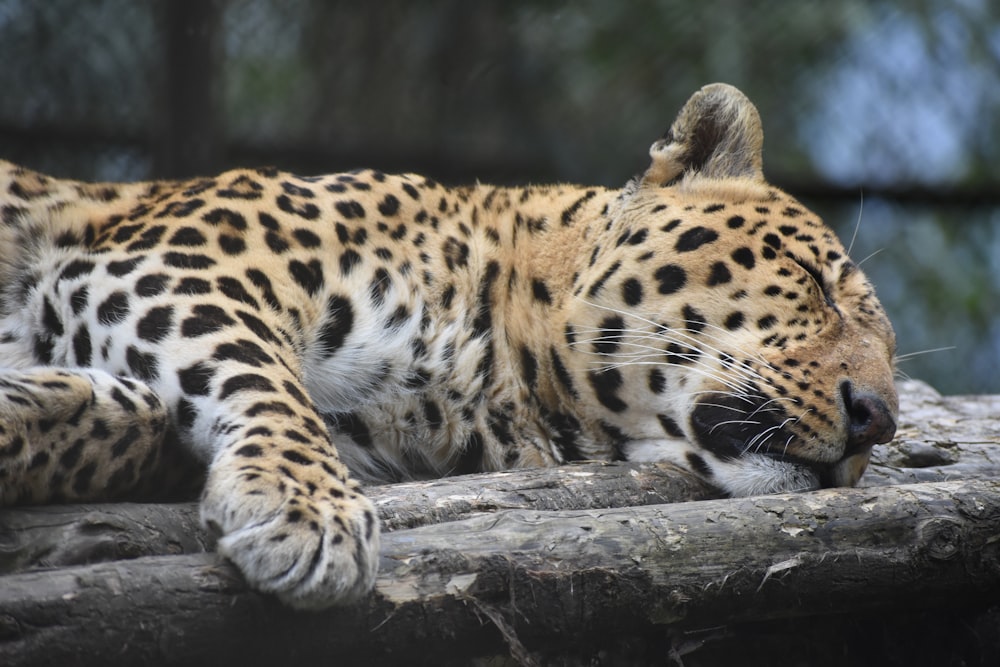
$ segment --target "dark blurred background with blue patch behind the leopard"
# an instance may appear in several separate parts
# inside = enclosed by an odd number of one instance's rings
[[[0,0],[0,157],[80,179],[620,186],[712,81],[759,107],[769,180],[854,238],[900,369],[1000,392],[993,0]]]

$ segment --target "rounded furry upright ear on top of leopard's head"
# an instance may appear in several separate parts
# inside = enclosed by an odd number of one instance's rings
[[[713,83],[691,96],[663,138],[649,149],[643,185],[669,185],[686,175],[764,180],[764,131],[757,108],[733,86]]]

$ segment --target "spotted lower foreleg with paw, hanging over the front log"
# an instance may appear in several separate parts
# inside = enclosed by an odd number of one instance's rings
[[[374,507],[288,366],[248,370],[236,362],[179,370],[181,421],[212,448],[202,520],[257,590],[298,608],[356,599],[378,567]]]

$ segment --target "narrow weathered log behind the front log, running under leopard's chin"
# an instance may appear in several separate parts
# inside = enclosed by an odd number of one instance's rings
[[[501,509],[591,509],[717,498],[670,464],[580,463],[372,487],[383,531]],[[0,510],[0,575],[211,550],[195,503],[48,505]]]

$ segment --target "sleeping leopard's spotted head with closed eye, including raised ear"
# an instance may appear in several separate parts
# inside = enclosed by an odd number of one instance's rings
[[[753,104],[696,93],[607,211],[566,323],[632,459],[736,495],[853,485],[895,432],[895,336],[834,234],[767,184]]]

